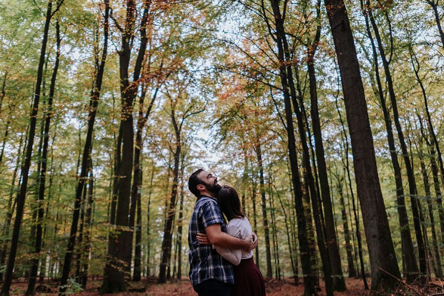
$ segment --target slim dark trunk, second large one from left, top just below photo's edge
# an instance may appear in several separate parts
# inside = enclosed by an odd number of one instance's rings
[[[51,122],[51,117],[53,116],[52,112],[52,101],[54,98],[55,91],[55,82],[57,79],[57,71],[59,68],[59,58],[60,58],[60,25],[59,20],[56,20],[55,23],[56,29],[56,44],[57,44],[57,53],[55,56],[55,64],[51,77],[51,84],[49,86],[49,98],[48,98],[48,106],[47,111],[45,113],[45,121],[44,121],[44,140],[43,140],[43,150],[41,155],[41,168],[40,168],[40,178],[39,178],[39,201],[37,203],[37,227],[36,227],[36,238],[35,238],[35,246],[34,246],[34,258],[31,263],[31,270],[28,281],[28,289],[26,291],[26,295],[34,295],[36,280],[37,280],[37,271],[39,268],[39,260],[40,260],[40,250],[42,243],[42,220],[44,215],[44,194],[45,194],[45,183],[46,183],[46,167],[47,167],[47,155],[48,155],[48,145],[49,145],[49,125]]]

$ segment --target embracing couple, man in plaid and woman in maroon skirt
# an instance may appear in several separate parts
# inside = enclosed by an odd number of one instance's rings
[[[203,169],[190,176],[188,188],[197,197],[188,229],[194,290],[199,296],[265,296],[264,279],[253,261],[257,236],[236,190],[219,185]]]

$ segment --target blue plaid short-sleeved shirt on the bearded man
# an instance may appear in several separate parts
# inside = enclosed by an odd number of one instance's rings
[[[198,232],[205,233],[205,228],[215,223],[220,224],[223,232],[226,231],[225,222],[216,200],[208,196],[199,197],[188,227],[189,276],[193,286],[209,279],[234,284],[233,265],[223,259],[216,249],[212,249],[212,246],[200,245],[196,238]]]

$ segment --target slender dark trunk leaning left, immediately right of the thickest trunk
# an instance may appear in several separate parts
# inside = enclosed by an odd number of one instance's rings
[[[398,218],[401,229],[402,253],[403,253],[403,259],[405,261],[405,271],[406,271],[404,273],[404,276],[406,277],[407,283],[412,283],[418,277],[419,270],[418,270],[418,265],[416,264],[413,242],[411,239],[410,227],[408,223],[408,216],[405,208],[404,186],[401,173],[401,166],[399,164],[398,155],[396,153],[395,138],[393,136],[393,130],[392,130],[392,119],[390,116],[390,111],[388,110],[387,104],[385,102],[384,91],[382,89],[381,78],[379,75],[379,65],[378,65],[378,56],[376,53],[376,46],[374,44],[374,40],[370,31],[370,25],[368,23],[368,18],[367,18],[368,15],[366,10],[364,9],[363,0],[361,0],[361,6],[364,11],[365,25],[373,52],[373,60],[374,60],[375,75],[377,82],[377,89],[375,89],[375,93],[379,97],[379,102],[381,103],[382,112],[384,114],[384,121],[387,132],[387,142],[389,145],[393,171],[395,173],[396,196],[397,196],[396,201],[398,205],[397,210],[398,210]]]

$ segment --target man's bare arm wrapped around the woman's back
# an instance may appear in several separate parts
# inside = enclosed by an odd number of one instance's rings
[[[212,245],[220,246],[227,249],[244,249],[251,251],[253,249],[253,242],[251,237],[241,239],[230,234],[222,232],[220,224],[211,224],[205,228],[208,240]]]

